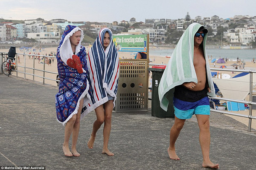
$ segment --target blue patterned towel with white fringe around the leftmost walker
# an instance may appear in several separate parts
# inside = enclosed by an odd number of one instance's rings
[[[83,73],[79,74],[74,68],[67,65],[67,59],[72,58],[73,51],[70,45],[70,37],[76,32],[81,31],[76,26],[66,26],[64,34],[61,36],[60,45],[57,48],[58,75],[60,77],[59,92],[55,95],[55,106],[57,120],[62,125],[77,113],[79,102],[84,98],[84,105],[90,101],[91,88],[89,84],[88,69],[86,63],[86,49],[81,46],[81,40],[76,46],[75,54],[80,58]],[[81,113],[81,119],[87,112]]]

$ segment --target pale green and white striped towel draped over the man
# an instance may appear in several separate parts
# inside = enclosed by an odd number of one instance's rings
[[[186,29],[186,31],[181,36],[179,42],[177,43],[172,57],[170,58],[165,71],[163,72],[163,76],[160,80],[158,94],[160,99],[160,107],[163,110],[167,111],[169,101],[166,99],[165,94],[172,88],[177,85],[181,85],[184,82],[196,82],[198,83],[195,68],[193,65],[193,57],[194,57],[194,35],[201,27],[201,24],[192,23]],[[207,34],[203,40],[204,46],[204,57],[206,61],[206,74],[207,80],[209,84],[209,88],[211,92],[207,92],[209,96],[215,96],[215,90],[212,82],[211,71],[209,68],[209,62],[206,53],[206,39]]]

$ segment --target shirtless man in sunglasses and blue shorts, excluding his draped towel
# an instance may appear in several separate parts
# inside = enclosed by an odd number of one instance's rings
[[[203,167],[218,169],[218,164],[213,164],[209,159],[210,131],[209,131],[209,98],[210,92],[207,82],[206,61],[204,57],[203,39],[207,29],[200,27],[194,36],[193,64],[198,83],[184,82],[175,87],[173,104],[175,107],[175,122],[170,131],[170,146],[168,153],[170,159],[180,160],[175,152],[175,142],[179,136],[186,119],[196,115],[200,129],[199,142],[203,154]],[[182,107],[182,110],[181,110]],[[184,109],[185,108],[185,109]],[[184,111],[185,110],[185,111]]]

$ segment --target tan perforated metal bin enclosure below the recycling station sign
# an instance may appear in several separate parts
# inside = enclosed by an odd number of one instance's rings
[[[148,111],[148,60],[120,59],[116,112]]]

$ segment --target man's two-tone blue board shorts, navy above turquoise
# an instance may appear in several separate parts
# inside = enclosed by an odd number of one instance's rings
[[[196,102],[185,102],[173,97],[174,114],[179,119],[190,119],[193,114],[210,115],[209,98],[206,96]]]

